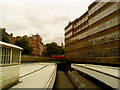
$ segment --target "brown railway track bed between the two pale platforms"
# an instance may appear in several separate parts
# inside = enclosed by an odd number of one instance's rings
[[[54,89],[59,88],[69,88],[69,89],[97,89],[102,90],[102,88],[95,84],[94,82],[86,79],[84,76],[80,75],[77,71],[58,71],[56,81],[54,84]]]

